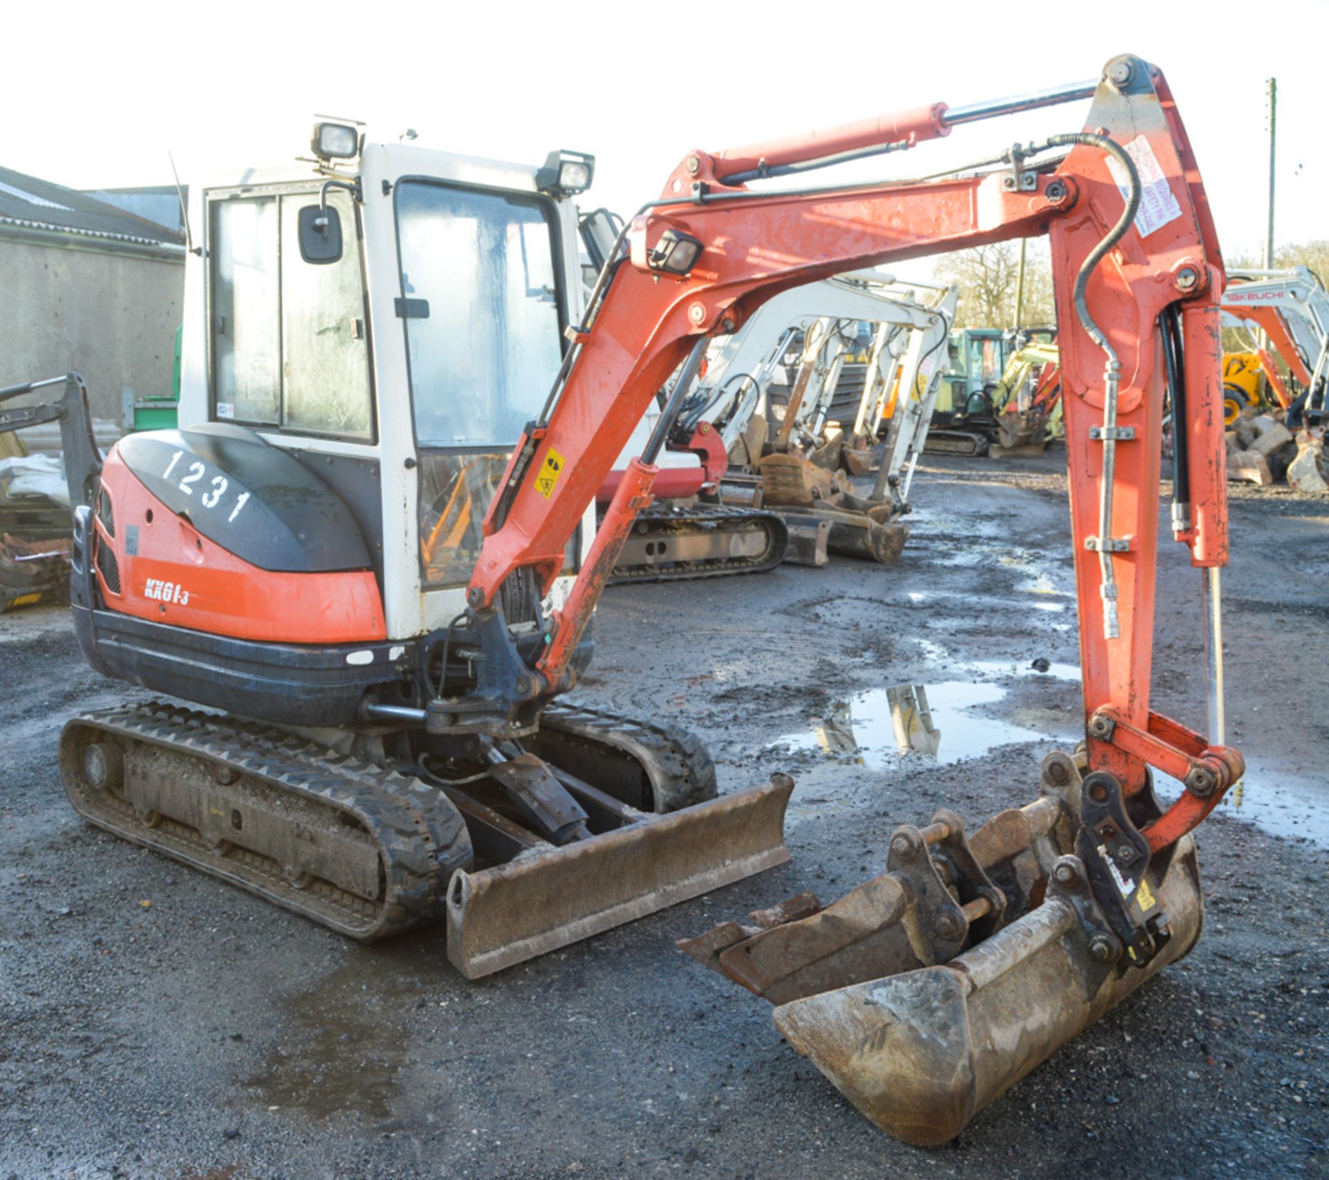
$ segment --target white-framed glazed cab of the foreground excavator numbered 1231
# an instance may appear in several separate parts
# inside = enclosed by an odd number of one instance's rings
[[[562,361],[575,194],[416,145],[303,171],[195,195],[181,420],[245,425],[355,486],[387,630],[416,635],[464,609],[502,468]],[[302,237],[319,219],[335,254]]]

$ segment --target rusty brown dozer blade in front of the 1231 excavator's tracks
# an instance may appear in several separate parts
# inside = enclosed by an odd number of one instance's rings
[[[563,848],[534,850],[448,889],[448,958],[477,979],[784,864],[793,780],[724,795]]]

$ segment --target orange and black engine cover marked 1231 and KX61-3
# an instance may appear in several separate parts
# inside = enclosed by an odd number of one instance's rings
[[[278,643],[385,638],[369,554],[346,504],[243,427],[122,439],[102,469],[94,533],[110,610]]]

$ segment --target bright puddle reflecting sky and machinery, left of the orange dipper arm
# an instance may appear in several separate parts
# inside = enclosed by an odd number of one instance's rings
[[[941,684],[897,684],[837,700],[813,719],[812,732],[789,734],[772,745],[821,749],[852,756],[861,765],[886,769],[904,757],[940,764],[981,757],[995,745],[1045,741],[1047,734],[973,712],[1006,695],[997,684],[946,680]]]

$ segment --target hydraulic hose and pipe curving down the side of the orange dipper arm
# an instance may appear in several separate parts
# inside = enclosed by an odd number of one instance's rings
[[[1122,627],[1116,613],[1116,577],[1112,570],[1112,500],[1116,476],[1116,399],[1120,389],[1122,363],[1116,356],[1116,349],[1112,348],[1111,342],[1103,334],[1103,330],[1094,322],[1084,292],[1088,288],[1088,279],[1095,267],[1107,256],[1108,250],[1122,241],[1135,221],[1135,214],[1140,207],[1140,174],[1135,167],[1135,161],[1126,153],[1126,149],[1107,136],[1095,136],[1091,132],[1071,132],[1062,136],[1053,136],[1041,146],[1030,148],[1026,154],[1034,155],[1049,148],[1098,148],[1122,166],[1130,181],[1126,209],[1122,210],[1116,225],[1107,231],[1103,241],[1088,252],[1088,256],[1079,268],[1079,274],[1075,275],[1074,292],[1075,315],[1079,318],[1080,326],[1107,356],[1107,364],[1103,369],[1103,474],[1099,481],[1098,538],[1095,549],[1098,550],[1098,561],[1102,570],[1099,594],[1103,598],[1103,634],[1108,639],[1116,639],[1122,634]]]

